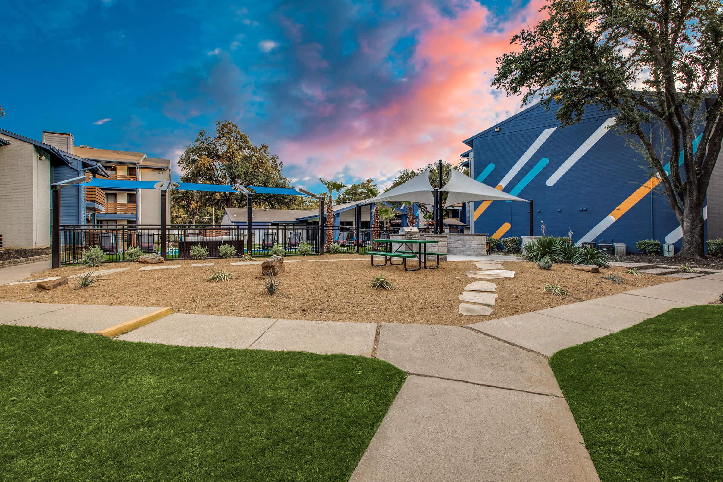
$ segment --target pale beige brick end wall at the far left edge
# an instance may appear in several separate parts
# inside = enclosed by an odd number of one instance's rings
[[[9,138],[0,147],[0,233],[6,248],[50,245],[50,161]]]

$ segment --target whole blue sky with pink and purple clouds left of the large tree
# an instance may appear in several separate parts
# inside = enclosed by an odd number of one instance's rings
[[[0,127],[175,165],[231,120],[296,186],[388,184],[458,163],[463,140],[521,111],[491,87],[541,0],[9,0]]]

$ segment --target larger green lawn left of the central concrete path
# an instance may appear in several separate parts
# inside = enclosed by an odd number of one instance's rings
[[[2,481],[347,481],[406,374],[0,326]]]

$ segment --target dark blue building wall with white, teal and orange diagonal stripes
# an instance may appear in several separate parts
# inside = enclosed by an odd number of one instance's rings
[[[675,244],[677,251],[680,225],[646,160],[628,137],[608,129],[615,115],[591,107],[581,122],[562,129],[555,108],[548,112],[538,103],[466,139],[471,149],[463,152],[463,163],[477,181],[534,201],[533,236],[542,234],[544,223],[548,235],[572,231],[578,244],[622,243],[635,252],[636,241],[657,239]],[[647,128],[654,145],[665,144],[660,129]],[[721,193],[714,188],[721,164],[711,180],[710,209],[704,210],[716,226],[723,215]],[[530,235],[528,203],[472,204],[472,232],[495,238]]]

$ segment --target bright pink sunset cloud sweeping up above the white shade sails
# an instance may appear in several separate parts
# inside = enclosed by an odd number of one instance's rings
[[[361,178],[381,178],[437,159],[458,163],[469,148],[463,139],[520,111],[518,98],[506,97],[490,82],[495,59],[512,49],[510,38],[540,19],[542,0],[502,24],[477,1],[465,1],[466,10],[448,18],[425,0],[420,11],[427,28],[416,46],[412,61],[418,73],[408,88],[374,108],[349,99],[362,107],[357,116],[320,124],[304,139],[283,142],[278,151],[284,163],[317,176],[345,171]],[[361,48],[380,53],[388,43],[363,40]],[[354,87],[343,88],[354,92]]]

